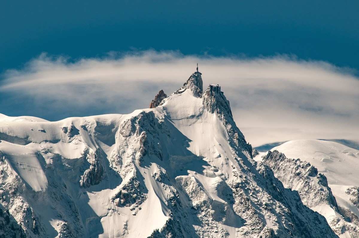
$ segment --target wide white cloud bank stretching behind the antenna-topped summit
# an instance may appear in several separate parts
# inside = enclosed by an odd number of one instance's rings
[[[359,138],[359,79],[325,62],[285,56],[230,58],[145,51],[70,62],[46,54],[7,71],[0,92],[38,110],[129,113],[160,90],[171,94],[199,63],[204,86],[220,84],[238,127],[253,146],[300,138]],[[57,109],[55,109],[57,108]],[[6,114],[6,111],[0,111]]]

